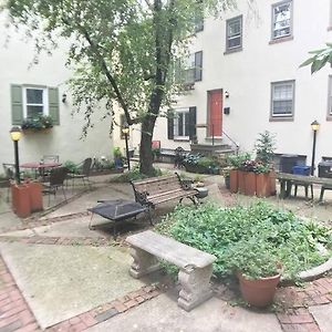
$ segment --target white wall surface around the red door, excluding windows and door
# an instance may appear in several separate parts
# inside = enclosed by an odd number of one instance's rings
[[[177,106],[197,106],[197,123],[206,123],[207,91],[224,89],[230,96],[224,106],[230,114],[224,115],[224,131],[251,151],[258,133],[266,129],[277,135],[277,153],[303,154],[311,160],[312,129],[317,120],[321,124],[317,142],[317,162],[321,156],[332,156],[332,122],[326,121],[328,80],[332,74],[326,66],[311,76],[310,68],[299,69],[310,50],[317,50],[332,38],[331,1],[310,2],[293,0],[293,40],[269,44],[271,34],[271,6],[278,0],[256,1],[259,20],[248,11],[247,1],[239,0],[238,10],[228,12],[225,19],[207,19],[203,32],[193,43],[193,52],[201,51],[203,81],[195,83],[190,95],[180,97]],[[243,14],[243,50],[224,54],[226,19]],[[292,122],[270,122],[270,83],[295,80],[295,110]],[[197,129],[199,143],[205,142],[206,131]],[[154,139],[162,147],[183,144],[167,139],[167,121],[159,118]],[[227,139],[225,139],[227,143]]]

